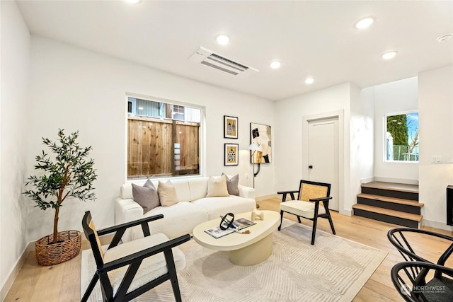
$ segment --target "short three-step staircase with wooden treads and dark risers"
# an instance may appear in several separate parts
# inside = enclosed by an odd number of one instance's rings
[[[362,184],[362,193],[357,194],[357,204],[352,209],[356,216],[420,228],[422,207],[418,202],[418,185],[369,182]]]

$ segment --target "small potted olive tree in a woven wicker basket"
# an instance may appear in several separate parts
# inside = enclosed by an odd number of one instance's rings
[[[93,168],[94,161],[88,159],[91,146],[82,148],[76,141],[79,132],[64,134],[59,129],[58,140],[42,138],[50,154],[42,150],[36,156],[35,170],[40,175],[32,175],[25,183],[24,194],[35,202],[35,207],[42,210],[54,209],[53,233],[40,238],[35,243],[36,258],[40,265],[56,265],[70,260],[80,252],[81,233],[79,231],[58,231],[59,209],[65,200],[94,200],[93,181],[97,175]]]

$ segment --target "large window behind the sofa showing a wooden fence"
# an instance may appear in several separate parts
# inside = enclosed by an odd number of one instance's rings
[[[127,179],[200,174],[201,109],[127,98]]]

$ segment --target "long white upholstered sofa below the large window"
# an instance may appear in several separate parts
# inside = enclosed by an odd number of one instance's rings
[[[256,208],[255,189],[252,187],[238,185],[239,196],[206,197],[208,180],[208,177],[171,179],[171,183],[176,189],[178,202],[169,207],[156,207],[147,214],[143,214],[143,208],[134,202],[132,184],[126,183],[121,186],[120,198],[116,200],[115,224],[163,214],[164,219],[149,223],[151,233],[164,233],[168,238],[174,238],[192,233],[193,228],[198,224],[218,218],[228,212],[236,214],[253,211]],[[144,182],[145,180],[142,183],[134,183],[143,185]],[[159,182],[152,182],[158,189]],[[122,240],[127,242],[142,237],[142,229],[135,227],[125,233]]]

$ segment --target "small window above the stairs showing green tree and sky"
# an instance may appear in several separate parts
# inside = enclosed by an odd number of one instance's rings
[[[386,115],[385,160],[418,162],[418,112]]]

